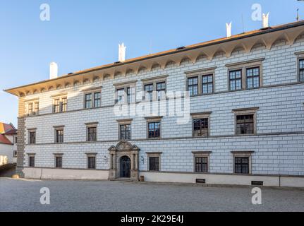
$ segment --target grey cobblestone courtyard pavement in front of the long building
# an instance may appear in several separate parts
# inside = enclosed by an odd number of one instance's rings
[[[42,187],[50,205],[40,204]],[[249,187],[0,178],[0,211],[304,211],[304,191],[264,188],[258,206],[252,196]]]

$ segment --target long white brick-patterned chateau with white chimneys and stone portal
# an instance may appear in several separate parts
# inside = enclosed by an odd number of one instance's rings
[[[6,90],[18,174],[303,187],[304,21],[230,28],[135,59],[122,45],[120,61],[60,77],[51,64],[50,80]]]

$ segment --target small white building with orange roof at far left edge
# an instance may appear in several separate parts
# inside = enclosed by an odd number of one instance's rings
[[[0,122],[0,166],[17,162],[17,129]]]

